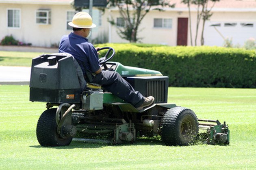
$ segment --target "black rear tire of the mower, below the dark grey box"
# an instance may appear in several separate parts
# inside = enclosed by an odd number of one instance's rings
[[[37,140],[43,147],[67,146],[72,137],[61,138],[57,133],[56,108],[45,110],[37,122]]]

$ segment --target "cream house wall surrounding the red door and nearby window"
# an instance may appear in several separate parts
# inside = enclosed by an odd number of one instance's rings
[[[118,11],[111,11],[111,17],[116,21],[120,17]],[[177,45],[177,32],[178,32],[178,17],[187,17],[187,12],[178,13],[177,11],[150,11],[142,20],[139,27],[138,38],[142,38],[142,43],[148,44],[162,44],[169,46]],[[192,14],[195,17],[195,14]],[[154,28],[154,18],[172,19],[172,28]],[[195,21],[192,19],[192,31],[195,32]],[[111,43],[128,43],[117,34],[116,26],[110,27]],[[187,44],[190,45],[190,33],[188,29]],[[199,42],[199,41],[198,41]]]

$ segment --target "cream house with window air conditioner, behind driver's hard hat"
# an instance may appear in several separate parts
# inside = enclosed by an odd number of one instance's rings
[[[64,34],[72,32],[67,25],[75,10],[73,0],[0,0],[0,40],[12,35],[16,40],[32,43],[33,46],[58,45]],[[108,28],[101,22],[101,13],[93,11],[98,26],[94,32]],[[97,34],[92,34],[93,37]]]

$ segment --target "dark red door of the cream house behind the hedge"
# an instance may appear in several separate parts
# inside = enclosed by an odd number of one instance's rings
[[[188,18],[178,18],[177,45],[187,45],[188,40]]]

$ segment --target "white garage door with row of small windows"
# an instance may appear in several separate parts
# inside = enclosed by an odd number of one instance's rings
[[[206,21],[204,45],[223,46],[225,38],[232,38],[233,45],[242,47],[249,38],[256,39],[256,22]]]

